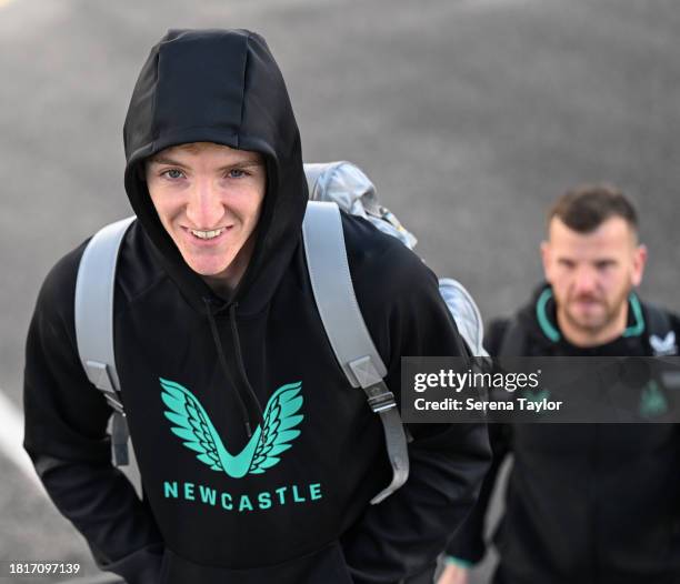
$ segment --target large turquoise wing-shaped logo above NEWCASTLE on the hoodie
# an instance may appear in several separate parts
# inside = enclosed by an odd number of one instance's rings
[[[173,381],[160,379],[160,384],[161,399],[170,410],[164,414],[173,424],[172,433],[197,453],[199,461],[232,479],[264,473],[279,463],[279,455],[300,435],[300,431],[294,429],[303,419],[298,414],[302,407],[302,396],[298,395],[301,382],[281,385],[273,393],[264,409],[263,424],[258,425],[248,444],[236,455],[227,451],[196,395]]]

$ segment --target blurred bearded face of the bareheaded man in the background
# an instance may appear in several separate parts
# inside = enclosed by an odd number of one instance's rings
[[[553,217],[548,235],[541,246],[543,269],[563,334],[580,346],[619,336],[626,329],[628,295],[640,284],[647,258],[633,229],[612,217],[580,233]]]

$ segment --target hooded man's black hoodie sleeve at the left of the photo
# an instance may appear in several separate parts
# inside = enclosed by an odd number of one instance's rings
[[[88,381],[76,349],[79,258],[73,252],[59,262],[38,298],[26,346],[23,446],[97,564],[129,584],[157,583],[161,536],[147,504],[110,463],[111,411]]]

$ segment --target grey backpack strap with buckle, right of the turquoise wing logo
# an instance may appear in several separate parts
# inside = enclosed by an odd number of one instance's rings
[[[394,395],[382,379],[387,369],[366,326],[350,276],[340,211],[336,203],[309,202],[302,223],[304,253],[326,334],[352,387],[361,387],[380,415],[392,465],[392,482],[372,504],[397,491],[409,476],[409,454]]]

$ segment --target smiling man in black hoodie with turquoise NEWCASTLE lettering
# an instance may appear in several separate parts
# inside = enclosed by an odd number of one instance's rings
[[[487,431],[411,427],[408,482],[369,504],[391,467],[380,421],[349,386],[314,304],[300,137],[263,39],[168,32],[138,79],[124,145],[138,220],[119,258],[114,345],[144,496],[111,465],[111,411],[78,358],[83,243],[47,276],[27,342],[24,446],[56,505],[98,564],[129,583],[427,574],[477,496]],[[414,254],[363,220],[342,215],[342,229],[399,395],[401,355],[463,355],[464,344]],[[287,444],[256,463],[274,409]],[[201,432],[219,456],[196,452]]]

